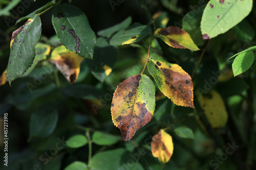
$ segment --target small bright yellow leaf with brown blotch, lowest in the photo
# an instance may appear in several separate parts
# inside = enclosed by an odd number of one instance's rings
[[[152,155],[164,164],[170,160],[174,152],[173,138],[163,129],[153,136],[151,142]]]

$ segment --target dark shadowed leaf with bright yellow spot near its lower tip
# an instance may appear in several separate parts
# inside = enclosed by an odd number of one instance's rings
[[[103,82],[112,72],[116,57],[117,48],[111,46],[104,38],[98,38],[93,60],[87,61],[93,76]]]

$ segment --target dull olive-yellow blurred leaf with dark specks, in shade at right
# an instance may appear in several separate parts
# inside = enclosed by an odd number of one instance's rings
[[[209,93],[197,96],[211,127],[224,127],[227,123],[228,113],[221,95],[217,91],[211,90]]]

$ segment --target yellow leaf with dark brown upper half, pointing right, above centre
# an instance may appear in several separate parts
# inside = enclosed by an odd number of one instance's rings
[[[155,31],[155,37],[161,38],[166,44],[174,48],[188,48],[191,51],[200,50],[190,35],[179,27],[159,28]]]

